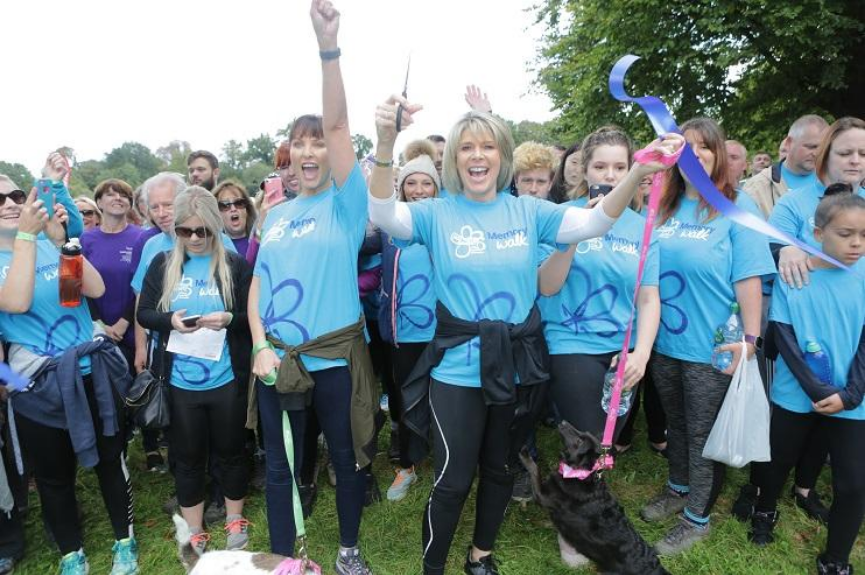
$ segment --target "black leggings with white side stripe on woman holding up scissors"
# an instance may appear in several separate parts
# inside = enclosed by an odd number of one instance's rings
[[[523,397],[528,391],[520,386],[518,393]],[[529,425],[512,431],[515,406],[487,406],[479,387],[432,380],[429,402],[435,481],[423,517],[423,565],[425,574],[441,575],[475,470],[480,479],[472,543],[492,550],[513,490],[517,450]],[[539,411],[542,405],[539,400],[533,409]]]

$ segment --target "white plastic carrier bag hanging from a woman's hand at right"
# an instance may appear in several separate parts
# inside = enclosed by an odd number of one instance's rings
[[[731,467],[771,459],[769,401],[756,357],[746,357],[743,343],[739,365],[703,448],[703,457]]]

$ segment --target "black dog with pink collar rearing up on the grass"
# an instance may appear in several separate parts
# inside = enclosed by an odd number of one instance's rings
[[[572,469],[592,469],[601,454],[598,440],[566,421],[559,425],[559,433],[564,443],[562,461]],[[594,561],[599,572],[669,575],[597,473],[583,480],[565,479],[556,469],[541,483],[538,466],[525,449],[520,459],[531,475],[535,500],[549,511],[562,537]]]

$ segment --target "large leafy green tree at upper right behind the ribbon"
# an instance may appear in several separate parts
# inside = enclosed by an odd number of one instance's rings
[[[660,96],[680,122],[707,115],[749,147],[774,149],[805,113],[865,116],[865,2],[845,0],[541,0],[537,82],[568,141],[615,123],[653,136],[642,112],[608,93],[621,56],[634,95]]]

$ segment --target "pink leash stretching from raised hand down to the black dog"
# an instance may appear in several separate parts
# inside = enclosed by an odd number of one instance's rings
[[[682,155],[684,146],[680,147],[673,154],[663,154],[657,150],[643,148],[634,154],[634,161],[640,164],[648,164],[650,162],[659,162],[666,167],[671,167],[676,164],[679,156]],[[640,263],[637,267],[637,281],[634,285],[634,297],[631,300],[631,317],[628,319],[628,327],[625,331],[625,341],[622,344],[622,351],[619,354],[619,363],[616,366],[616,382],[613,385],[613,393],[610,397],[610,410],[607,413],[607,421],[604,425],[604,436],[601,439],[601,455],[595,461],[592,469],[574,469],[565,462],[559,463],[559,473],[565,479],[580,479],[585,480],[593,473],[603,473],[607,469],[612,469],[614,465],[613,456],[610,453],[613,447],[613,438],[616,432],[616,420],[619,418],[619,404],[622,401],[622,385],[625,379],[625,367],[628,362],[628,350],[631,347],[631,333],[634,327],[634,314],[636,313],[637,297],[640,293],[640,284],[643,281],[643,272],[646,267],[646,259],[649,256],[649,244],[652,240],[652,229],[655,227],[655,220],[658,217],[658,205],[661,203],[661,189],[664,183],[665,172],[656,172],[652,176],[652,188],[649,193],[649,213],[646,215],[646,225],[643,226],[643,241],[640,244]]]

